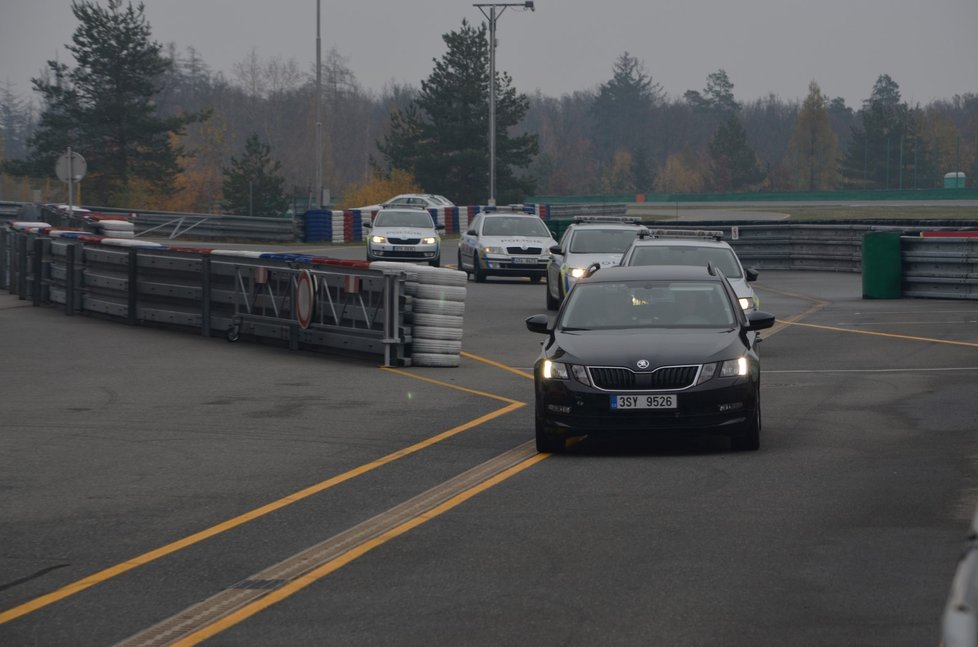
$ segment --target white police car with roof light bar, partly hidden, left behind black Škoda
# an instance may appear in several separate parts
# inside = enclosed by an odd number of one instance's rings
[[[576,216],[560,244],[550,248],[547,264],[547,310],[560,307],[564,296],[588,267],[618,265],[636,236],[645,231],[641,219],[617,216]]]

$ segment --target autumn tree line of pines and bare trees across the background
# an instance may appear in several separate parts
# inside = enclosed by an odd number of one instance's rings
[[[406,191],[458,204],[488,195],[485,24],[463,20],[445,34],[445,54],[419,87],[373,93],[335,50],[321,84],[314,65],[254,52],[225,75],[192,48],[154,41],[142,5],[76,0],[71,10],[75,66],[48,61],[33,99],[0,87],[5,193],[11,178],[52,177],[71,146],[88,161],[84,202],[101,206],[277,215],[316,204],[320,165],[340,207]],[[493,82],[503,203],[939,188],[949,171],[975,186],[978,172],[978,94],[910,105],[887,74],[858,108],[814,80],[801,101],[744,102],[723,69],[670,97],[627,51],[607,81],[559,98],[521,93],[506,72]]]

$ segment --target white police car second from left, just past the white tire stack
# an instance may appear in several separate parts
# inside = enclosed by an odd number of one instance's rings
[[[550,248],[556,244],[539,216],[480,213],[459,238],[458,269],[480,283],[487,276],[526,276],[536,283],[546,275]]]

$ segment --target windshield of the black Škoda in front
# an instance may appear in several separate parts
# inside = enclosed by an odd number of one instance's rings
[[[715,281],[583,281],[567,295],[557,328],[733,328],[736,322]]]

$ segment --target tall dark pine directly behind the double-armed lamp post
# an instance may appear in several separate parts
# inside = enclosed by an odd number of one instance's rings
[[[431,193],[457,204],[485,202],[489,186],[489,44],[486,25],[462,21],[443,36],[448,51],[435,61],[417,98],[391,116],[391,130],[378,146],[389,166],[411,172]],[[497,71],[496,187],[500,202],[533,191],[532,178],[518,177],[537,152],[535,135],[510,135],[529,102],[512,79]]]

